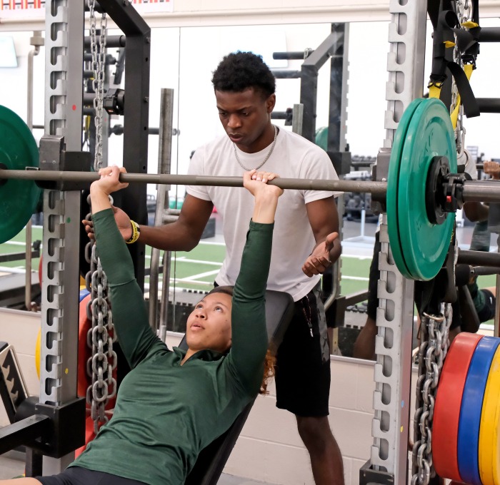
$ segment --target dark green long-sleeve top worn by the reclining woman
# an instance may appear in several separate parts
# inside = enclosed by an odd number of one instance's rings
[[[111,209],[94,215],[116,333],[131,372],[114,416],[72,465],[151,485],[183,484],[199,451],[259,392],[267,349],[264,294],[272,224],[250,222],[231,311],[228,354],[203,350],[180,365],[151,330],[144,296]]]

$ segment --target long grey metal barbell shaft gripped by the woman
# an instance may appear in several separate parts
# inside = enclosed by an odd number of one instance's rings
[[[0,179],[51,180],[54,182],[88,182],[99,178],[96,172],[70,172],[57,170],[0,170]],[[122,173],[121,182],[166,185],[207,185],[213,187],[243,187],[242,177],[210,177],[206,175],[164,175],[157,173]],[[302,178],[277,178],[271,185],[299,190],[331,190],[339,192],[366,192],[384,195],[386,182],[368,180],[308,180]]]

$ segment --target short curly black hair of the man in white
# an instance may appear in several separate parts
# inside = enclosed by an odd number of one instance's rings
[[[232,52],[224,56],[214,71],[215,91],[241,93],[249,88],[261,91],[268,98],[276,91],[276,80],[269,67],[253,52]]]

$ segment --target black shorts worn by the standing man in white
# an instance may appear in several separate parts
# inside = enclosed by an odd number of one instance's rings
[[[295,302],[276,354],[276,407],[300,417],[328,416],[330,351],[319,285]]]

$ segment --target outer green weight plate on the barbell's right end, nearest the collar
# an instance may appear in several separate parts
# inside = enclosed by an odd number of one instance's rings
[[[426,212],[426,179],[434,156],[446,156],[456,173],[456,146],[444,103],[424,99],[411,117],[399,170],[398,225],[404,261],[414,280],[431,280],[448,252],[455,215],[431,224]]]

